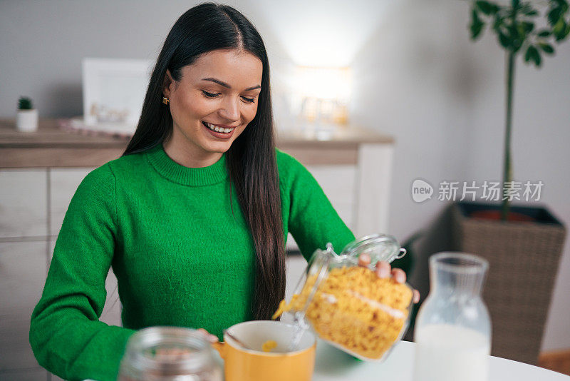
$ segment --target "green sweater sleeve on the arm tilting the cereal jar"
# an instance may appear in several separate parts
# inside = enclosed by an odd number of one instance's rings
[[[318,248],[332,243],[336,253],[354,235],[336,213],[321,186],[296,158],[277,150],[279,184],[289,200],[289,232],[299,245],[301,254],[309,260]],[[287,198],[287,197],[286,197]]]

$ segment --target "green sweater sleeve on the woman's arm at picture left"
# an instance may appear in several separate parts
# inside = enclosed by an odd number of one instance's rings
[[[43,294],[33,310],[30,344],[39,364],[66,380],[116,380],[133,330],[100,322],[105,278],[118,230],[109,164],[90,172],[68,207]]]

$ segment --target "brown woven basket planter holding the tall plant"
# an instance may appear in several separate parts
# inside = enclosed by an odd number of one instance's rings
[[[452,205],[452,250],[489,261],[483,299],[492,320],[492,355],[535,365],[566,229],[545,208],[511,208],[537,220],[530,223],[467,217],[475,210],[497,208]]]

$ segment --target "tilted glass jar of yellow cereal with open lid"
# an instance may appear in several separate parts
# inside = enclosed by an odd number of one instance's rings
[[[358,265],[364,253],[371,258],[368,268]],[[276,315],[290,313],[299,327],[361,360],[383,361],[408,328],[413,289],[378,278],[375,265],[404,255],[390,235],[358,238],[341,255],[328,243],[313,253],[295,295],[281,302]]]

